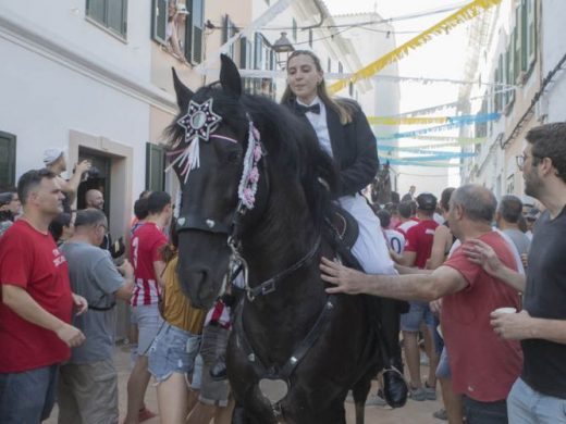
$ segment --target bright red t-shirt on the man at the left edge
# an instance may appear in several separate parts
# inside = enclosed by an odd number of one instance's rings
[[[47,312],[71,322],[69,270],[50,234],[20,220],[0,242],[0,283],[23,288]],[[71,349],[54,332],[32,324],[0,302],[0,373],[66,361]]]

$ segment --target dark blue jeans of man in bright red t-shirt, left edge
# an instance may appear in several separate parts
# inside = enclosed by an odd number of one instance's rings
[[[39,424],[47,420],[56,400],[59,365],[23,373],[0,374],[2,424]]]

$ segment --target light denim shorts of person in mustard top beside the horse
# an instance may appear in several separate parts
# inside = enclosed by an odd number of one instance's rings
[[[188,376],[195,364],[200,336],[164,323],[149,348],[148,370],[157,383],[171,374]]]

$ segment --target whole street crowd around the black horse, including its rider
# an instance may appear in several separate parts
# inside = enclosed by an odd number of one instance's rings
[[[531,129],[517,158],[536,207],[464,185],[440,201],[411,186],[401,203],[371,208],[361,191],[378,158],[360,108],[328,96],[309,51],[290,55],[287,83],[282,103],[333,158],[336,202],[359,224],[352,253],[360,270],[322,258],[327,291],[382,298],[391,366],[406,366],[410,398],[435,400],[439,382],[444,409],[434,415],[452,424],[566,423],[566,124]],[[171,196],[140,194],[121,247],[101,190],[72,209],[90,163],[64,179],[61,150],[48,149],[44,162],[0,194],[2,423],[41,422],[56,399],[60,423],[118,422],[119,300],[132,311],[124,423],[156,415],[145,404],[151,378],[162,423],[231,422],[231,298],[207,313],[183,296]],[[367,404],[384,403],[378,392]]]

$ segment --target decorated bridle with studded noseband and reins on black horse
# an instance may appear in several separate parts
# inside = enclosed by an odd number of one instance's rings
[[[210,101],[210,108],[212,102]],[[244,290],[246,291],[247,299],[249,301],[254,301],[259,296],[266,296],[269,295],[276,289],[276,284],[294,273],[295,271],[302,269],[307,263],[309,263],[315,254],[318,252],[320,248],[321,238],[320,236],[317,238],[317,241],[315,242],[313,247],[298,261],[296,261],[291,266],[286,267],[284,271],[278,273],[273,277],[260,283],[259,285],[255,287],[249,286],[249,278],[248,278],[248,265],[246,260],[243,258],[241,250],[242,250],[242,240],[239,238],[239,235],[242,234],[241,227],[242,222],[244,220],[244,216],[248,211],[254,209],[255,205],[255,195],[258,186],[258,180],[261,177],[264,178],[264,185],[267,186],[267,191],[269,192],[269,177],[267,173],[267,164],[263,162],[262,170],[263,172],[259,171],[258,164],[261,161],[261,159],[264,155],[264,148],[260,141],[260,135],[257,128],[254,126],[254,123],[249,116],[249,114],[246,114],[248,119],[248,146],[246,149],[246,154],[244,157],[244,171],[241,178],[239,187],[238,187],[238,203],[236,205],[236,209],[233,213],[231,223],[226,225],[223,222],[219,222],[216,220],[212,220],[211,217],[201,216],[199,214],[189,213],[189,214],[180,214],[177,216],[176,221],[176,233],[181,234],[183,232],[187,230],[200,230],[205,233],[212,233],[212,234],[225,234],[227,236],[227,246],[231,250],[230,255],[230,263],[229,263],[229,272],[226,275],[226,280],[232,283],[236,277],[238,273],[234,273],[234,270],[242,270],[243,273],[243,279],[244,279]],[[181,121],[181,120],[180,120]],[[216,128],[214,128],[216,129]],[[232,137],[219,135],[219,134],[209,134],[207,135],[206,141],[210,138],[216,139],[222,139],[229,142],[238,144],[238,140]],[[175,154],[183,155],[185,154],[186,158],[189,157],[189,154],[194,154],[195,147],[194,144],[198,144],[199,139],[198,137],[195,137],[192,139],[190,144],[193,145],[187,147],[186,149],[177,149],[172,150],[168,152],[167,154],[172,157]],[[188,150],[192,149],[192,152],[189,153]],[[197,148],[198,149],[198,148]],[[197,150],[198,151],[198,150]],[[179,161],[175,159],[171,165],[175,164],[175,162]],[[181,161],[183,163],[183,161]],[[184,166],[184,171],[187,172],[187,175],[185,175],[185,184],[187,183],[187,176],[188,172],[190,171],[192,165],[188,163]],[[176,210],[179,213],[181,212],[181,205],[182,205],[182,195],[177,198],[177,204]]]

